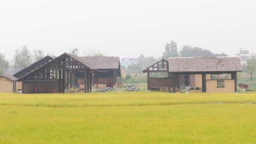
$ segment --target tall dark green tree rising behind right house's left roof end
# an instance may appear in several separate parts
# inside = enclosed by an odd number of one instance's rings
[[[177,43],[173,40],[171,43],[166,43],[165,46],[165,52],[163,52],[162,58],[168,59],[169,57],[177,57],[178,56],[178,50],[177,50]]]

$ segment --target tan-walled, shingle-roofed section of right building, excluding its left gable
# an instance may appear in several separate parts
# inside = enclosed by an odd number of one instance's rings
[[[194,81],[201,81],[202,92],[237,92],[236,73],[241,72],[241,64],[239,57],[169,58],[169,72],[177,89],[180,75],[199,75]]]

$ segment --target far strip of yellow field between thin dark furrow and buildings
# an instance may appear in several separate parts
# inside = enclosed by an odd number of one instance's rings
[[[0,94],[0,106],[108,107],[210,103],[250,103],[256,93],[106,92],[79,94]]]

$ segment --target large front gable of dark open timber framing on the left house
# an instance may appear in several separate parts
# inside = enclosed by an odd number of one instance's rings
[[[23,75],[20,78],[23,83],[23,92],[32,93],[35,88],[31,88],[31,85],[35,87],[35,84],[38,85],[37,90],[44,87],[46,93],[52,91],[64,92],[65,89],[70,89],[74,85],[74,71],[83,73],[84,92],[91,92],[92,70],[66,53],[54,60],[49,60],[35,71]]]

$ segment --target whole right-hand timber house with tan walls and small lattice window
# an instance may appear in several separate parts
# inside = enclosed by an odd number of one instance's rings
[[[169,58],[143,72],[148,74],[148,90],[176,92],[187,86],[190,92],[237,92],[241,64],[238,57]]]

